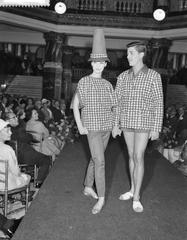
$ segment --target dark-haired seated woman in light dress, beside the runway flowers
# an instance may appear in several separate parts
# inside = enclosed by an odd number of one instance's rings
[[[55,145],[53,137],[49,134],[45,125],[38,120],[38,112],[36,109],[29,109],[26,111],[26,131],[30,132],[38,143],[33,147],[38,152],[52,156],[53,160],[55,155],[60,153],[60,149]]]

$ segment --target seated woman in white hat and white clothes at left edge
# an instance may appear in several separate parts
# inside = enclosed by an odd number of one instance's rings
[[[30,176],[20,172],[17,157],[12,147],[5,144],[11,138],[11,130],[8,122],[0,119],[0,159],[8,161],[8,189],[25,186],[30,181]],[[2,165],[0,166],[2,168]],[[4,189],[4,183],[0,182],[0,189]]]

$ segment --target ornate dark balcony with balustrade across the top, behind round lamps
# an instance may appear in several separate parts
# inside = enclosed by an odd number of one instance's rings
[[[101,26],[152,30],[187,27],[187,0],[171,0],[167,18],[162,22],[157,22],[152,17],[153,1],[68,0],[65,2],[68,10],[64,15],[58,15],[54,11],[54,0],[48,8],[2,8],[1,11],[57,26]]]

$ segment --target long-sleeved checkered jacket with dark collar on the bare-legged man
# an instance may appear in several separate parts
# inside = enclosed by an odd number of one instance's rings
[[[159,73],[146,66],[136,76],[132,69],[127,70],[118,76],[115,92],[118,98],[116,125],[161,131],[163,92]]]

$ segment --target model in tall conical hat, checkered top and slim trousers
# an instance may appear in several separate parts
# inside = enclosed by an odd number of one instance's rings
[[[109,61],[103,29],[94,31],[92,53],[88,61],[91,62],[93,71],[78,82],[73,112],[80,134],[87,135],[91,153],[83,193],[97,200],[92,208],[92,213],[97,214],[105,203],[104,152],[112,131],[112,108],[117,102],[111,83],[102,77]]]

